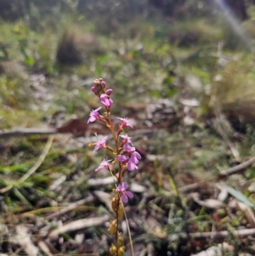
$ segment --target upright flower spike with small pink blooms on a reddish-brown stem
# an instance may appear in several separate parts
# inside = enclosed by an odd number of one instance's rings
[[[102,78],[94,81],[94,86],[91,90],[99,97],[101,105],[105,108],[105,112],[104,116],[99,114],[102,106],[91,111],[88,123],[94,121],[103,122],[105,126],[110,129],[110,133],[114,140],[113,147],[108,145],[108,136],[105,136],[88,146],[89,148],[94,147],[94,152],[99,151],[100,148],[105,148],[107,151],[111,152],[113,157],[112,160],[103,159],[95,171],[98,171],[99,169],[106,169],[112,176],[116,177],[116,189],[113,190],[115,196],[111,200],[111,208],[115,213],[116,219],[111,220],[109,228],[110,233],[115,236],[115,243],[111,244],[110,253],[113,256],[122,256],[124,255],[125,247],[122,233],[119,231],[119,221],[124,215],[123,203],[127,203],[129,198],[133,198],[133,193],[131,191],[127,191],[127,182],[122,179],[127,171],[133,172],[138,169],[141,156],[139,152],[135,151],[131,137],[128,137],[127,134],[122,134],[124,128],[133,128],[128,119],[116,117],[120,123],[117,129],[113,126],[111,119],[111,105],[113,105],[111,94],[113,93],[113,90],[111,88],[106,88],[106,82]],[[117,166],[117,168],[115,168],[115,166]]]

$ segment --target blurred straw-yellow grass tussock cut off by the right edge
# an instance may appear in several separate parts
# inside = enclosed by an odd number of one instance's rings
[[[252,56],[240,55],[216,73],[212,81],[210,102],[213,109],[241,117],[246,122],[254,122],[254,64]]]

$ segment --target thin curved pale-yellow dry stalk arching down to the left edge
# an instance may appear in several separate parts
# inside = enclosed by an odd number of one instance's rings
[[[40,167],[40,165],[44,161],[45,157],[48,155],[48,151],[53,143],[53,140],[54,140],[53,135],[48,137],[47,143],[44,146],[44,149],[42,151],[42,155],[37,159],[37,162],[32,166],[32,168],[19,179],[18,184],[20,184],[20,183],[24,182],[26,179],[28,179],[31,176],[31,174],[33,174],[37,170],[37,168]],[[7,187],[1,189],[0,193],[5,193],[6,191],[11,190],[13,187],[14,187],[14,185],[8,185]]]

